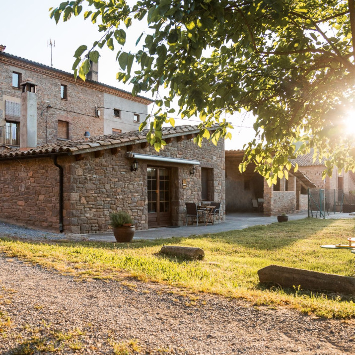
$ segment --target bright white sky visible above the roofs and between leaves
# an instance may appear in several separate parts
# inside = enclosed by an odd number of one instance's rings
[[[74,62],[73,54],[82,44],[92,46],[95,40],[101,37],[97,27],[89,20],[84,20],[82,14],[72,17],[69,21],[62,20],[56,24],[49,16],[48,9],[57,7],[59,0],[0,0],[0,44],[6,46],[5,52],[26,58],[41,64],[51,65],[51,48],[48,41],[52,39],[53,67],[72,72]],[[83,13],[83,12],[82,12]],[[142,31],[147,31],[145,23],[137,22],[127,31],[127,45],[125,50],[136,52],[135,43]],[[119,49],[118,46],[115,46]],[[99,81],[124,90],[131,90],[128,84],[116,80],[116,72],[120,70],[116,62],[116,51],[112,52],[104,47],[100,52]],[[150,93],[141,93],[142,96],[152,98]],[[148,112],[152,105],[148,107]],[[189,120],[176,120],[177,125],[198,125],[198,117]],[[226,149],[242,149],[243,144],[254,138],[252,128],[254,119],[251,115],[239,114],[228,118],[234,129],[231,130],[232,140],[225,141]],[[243,127],[240,127],[243,126]]]

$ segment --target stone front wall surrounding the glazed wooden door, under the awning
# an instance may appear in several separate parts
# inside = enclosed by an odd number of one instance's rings
[[[103,156],[97,158],[94,153],[85,154],[80,161],[71,157],[71,186],[65,203],[66,232],[107,231],[110,213],[121,210],[133,216],[137,230],[147,229],[147,166],[171,168],[172,223],[176,225],[186,223],[185,202],[201,201],[201,167],[213,168],[213,200],[222,203],[221,219],[225,219],[223,141],[217,147],[206,143],[199,148],[192,141],[176,142],[174,139],[159,153],[151,146],[142,149],[140,145],[136,145],[133,151],[199,160],[201,166],[196,167],[196,173],[191,175],[191,165],[139,160],[138,171],[131,172],[132,161],[126,158],[125,147],[117,154],[107,149]],[[186,180],[186,187],[183,186],[183,179]]]

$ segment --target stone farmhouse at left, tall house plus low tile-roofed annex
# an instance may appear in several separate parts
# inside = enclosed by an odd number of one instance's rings
[[[157,153],[138,131],[150,100],[97,82],[94,66],[75,81],[0,48],[0,220],[103,232],[123,210],[139,230],[183,225],[185,203],[200,201],[221,202],[224,220],[222,140],[200,148],[196,127],[164,128]]]

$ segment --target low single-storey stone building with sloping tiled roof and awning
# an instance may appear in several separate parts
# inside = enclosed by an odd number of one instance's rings
[[[144,131],[0,151],[0,219],[90,233],[107,231],[109,214],[123,210],[132,215],[137,229],[180,226],[186,223],[185,203],[201,202],[207,194],[221,202],[224,220],[224,142],[214,146],[204,141],[200,148],[192,141],[198,132],[193,126],[164,128],[168,144],[159,153],[146,142]],[[131,170],[134,159],[137,171]],[[63,169],[62,195],[58,166]],[[157,171],[160,187],[152,187]],[[163,197],[152,208],[154,189]]]

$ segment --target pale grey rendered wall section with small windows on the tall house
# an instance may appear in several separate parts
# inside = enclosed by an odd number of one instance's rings
[[[107,93],[104,94],[104,106],[105,109],[100,109],[101,117],[104,115],[104,135],[111,135],[113,128],[122,132],[137,131],[148,112],[147,105]],[[113,115],[114,108],[121,110],[121,118]],[[134,113],[140,115],[140,122],[133,121]]]

